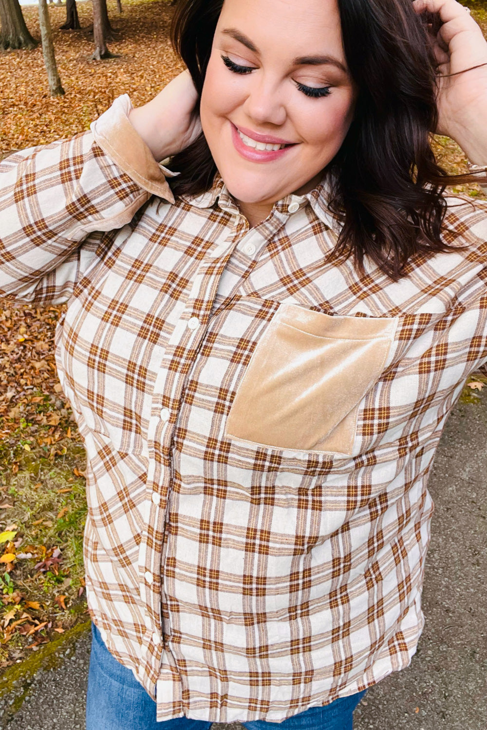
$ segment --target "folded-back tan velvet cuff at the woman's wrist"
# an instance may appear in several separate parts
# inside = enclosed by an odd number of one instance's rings
[[[110,109],[91,123],[95,142],[143,190],[174,203],[166,177],[175,177],[177,173],[156,162],[129,121],[132,108],[128,94],[118,96]]]

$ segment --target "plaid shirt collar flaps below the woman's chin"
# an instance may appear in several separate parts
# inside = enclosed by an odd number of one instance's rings
[[[285,196],[280,201],[277,201],[275,204],[275,210],[278,210],[281,213],[288,213],[288,208],[293,203],[299,204],[300,208],[309,203],[313,212],[322,221],[322,223],[324,223],[328,228],[331,228],[334,233],[340,234],[343,224],[337,215],[329,210],[329,198],[330,183],[328,175],[324,174],[321,183],[318,183],[312,191],[305,195],[294,195],[294,193],[291,193]],[[185,203],[197,208],[211,208],[218,201],[218,205],[222,210],[234,213],[239,212],[239,208],[227,190],[225,183],[223,183],[219,172],[215,174],[212,186],[209,190],[198,196],[183,195],[181,196],[181,199],[185,201]]]

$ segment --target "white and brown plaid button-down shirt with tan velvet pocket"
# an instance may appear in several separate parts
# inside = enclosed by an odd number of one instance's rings
[[[67,302],[93,621],[157,719],[281,721],[410,662],[426,480],[487,358],[486,204],[397,283],[324,263],[322,185],[256,228],[175,199],[120,97],[0,165],[0,289]]]

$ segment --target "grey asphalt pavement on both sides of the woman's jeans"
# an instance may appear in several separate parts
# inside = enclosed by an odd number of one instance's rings
[[[487,392],[456,406],[434,462],[418,651],[410,667],[369,689],[354,730],[487,730],[486,444]],[[40,657],[36,671],[9,668],[0,677],[0,728],[83,730],[90,642],[89,631],[78,631]]]

